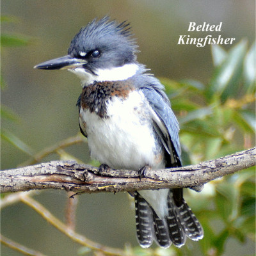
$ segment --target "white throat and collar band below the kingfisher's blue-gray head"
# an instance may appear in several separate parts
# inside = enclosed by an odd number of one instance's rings
[[[139,70],[139,66],[135,63],[125,64],[122,67],[108,68],[108,69],[97,69],[93,75],[82,67],[70,68],[68,71],[76,74],[80,79],[82,86],[92,84],[93,82],[102,82],[102,81],[119,81],[125,80],[129,77],[132,77]]]

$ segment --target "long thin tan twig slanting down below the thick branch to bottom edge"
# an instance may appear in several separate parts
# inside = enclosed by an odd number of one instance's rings
[[[70,228],[68,228],[67,225],[62,223],[55,216],[53,216],[50,211],[48,211],[43,205],[41,205],[39,202],[31,198],[30,196],[20,196],[20,199],[22,202],[24,202],[24,204],[27,204],[29,207],[38,212],[38,214],[40,214],[45,220],[47,220],[47,222],[49,222],[53,227],[60,230],[60,232],[65,234],[65,236],[69,237],[76,243],[82,244],[83,246],[91,248],[92,250],[104,252],[107,255],[127,256],[127,254],[123,250],[95,243],[94,241],[87,239],[86,237],[80,234],[77,234],[74,230],[70,230]]]

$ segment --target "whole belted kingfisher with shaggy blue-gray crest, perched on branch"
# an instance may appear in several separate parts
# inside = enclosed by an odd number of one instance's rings
[[[163,84],[136,61],[137,48],[130,24],[106,16],[81,28],[67,56],[35,68],[67,69],[81,79],[79,126],[100,168],[181,166],[179,124]],[[164,248],[180,247],[186,237],[204,236],[182,189],[136,191],[134,200],[141,247],[154,240]]]

